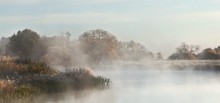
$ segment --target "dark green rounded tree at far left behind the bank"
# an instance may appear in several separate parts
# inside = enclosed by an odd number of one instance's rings
[[[7,47],[11,53],[22,59],[32,59],[39,43],[40,36],[30,29],[25,29],[12,35]]]

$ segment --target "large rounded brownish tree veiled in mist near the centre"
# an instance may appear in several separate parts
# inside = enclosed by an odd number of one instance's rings
[[[89,56],[89,61],[99,64],[101,60],[109,60],[117,57],[117,38],[108,31],[97,29],[83,33],[79,37],[82,50]]]

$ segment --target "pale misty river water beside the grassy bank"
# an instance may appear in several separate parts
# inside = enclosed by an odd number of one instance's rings
[[[139,68],[136,68],[139,67]],[[112,66],[113,68],[113,66]],[[96,69],[95,75],[112,80],[108,90],[89,90],[60,103],[218,103],[220,73],[146,68],[140,66]]]

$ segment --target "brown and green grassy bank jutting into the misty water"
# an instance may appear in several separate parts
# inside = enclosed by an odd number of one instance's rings
[[[36,97],[69,90],[106,89],[110,83],[110,79],[94,76],[91,70],[85,68],[59,72],[45,63],[0,58],[1,103],[33,102]]]

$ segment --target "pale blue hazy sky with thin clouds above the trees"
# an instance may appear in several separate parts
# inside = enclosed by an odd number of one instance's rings
[[[30,28],[73,38],[101,28],[170,55],[181,42],[220,43],[220,0],[0,0],[0,35]]]

